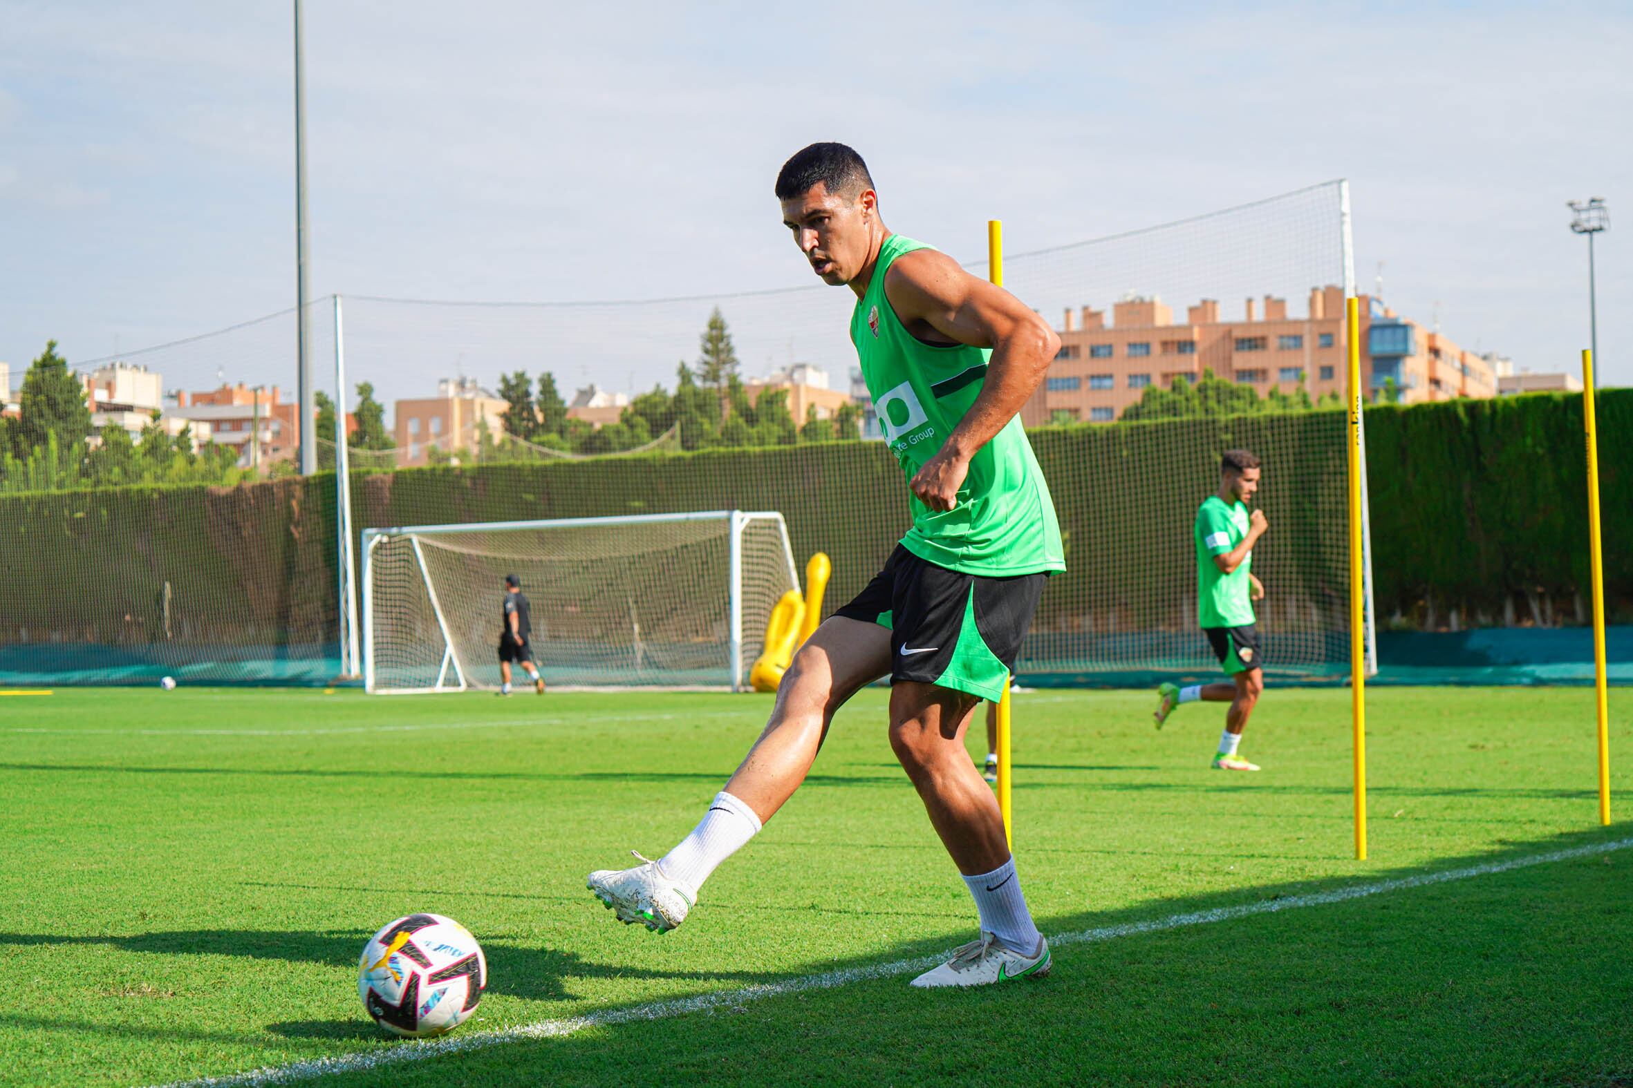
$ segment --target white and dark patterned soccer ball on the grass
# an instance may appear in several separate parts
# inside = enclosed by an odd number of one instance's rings
[[[369,938],[358,995],[380,1028],[428,1037],[470,1018],[488,985],[488,961],[470,930],[439,913],[397,918]]]

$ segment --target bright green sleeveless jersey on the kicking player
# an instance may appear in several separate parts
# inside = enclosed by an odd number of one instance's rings
[[[965,344],[926,344],[890,308],[885,299],[890,264],[903,253],[928,248],[901,235],[885,238],[867,292],[851,315],[851,343],[862,362],[862,380],[910,483],[970,411],[993,354]],[[1019,416],[970,458],[970,473],[950,511],[932,511],[911,491],[908,504],[913,529],[901,546],[928,563],[983,577],[1066,569],[1055,502]]]

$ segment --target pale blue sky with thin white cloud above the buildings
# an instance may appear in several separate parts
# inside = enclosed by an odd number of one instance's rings
[[[1362,290],[1382,274],[1396,312],[1532,370],[1579,367],[1566,201],[1600,196],[1600,378],[1633,385],[1633,5],[1321,7],[309,0],[309,295],[808,287],[771,184],[836,139],[892,228],[967,259],[994,217],[1035,250],[1347,178]],[[167,387],[294,387],[292,316],[132,354],[294,303],[291,3],[0,0],[0,26],[13,387],[47,339],[70,364],[150,360]],[[790,326],[831,320],[843,349],[844,294],[789,294]],[[779,299],[745,303],[750,374],[787,362],[761,343]],[[356,374],[385,400],[518,362],[648,388],[696,356],[696,310],[573,310],[625,349],[580,329],[565,359],[565,312],[359,302],[348,352],[356,323]],[[394,367],[415,344],[434,359]]]

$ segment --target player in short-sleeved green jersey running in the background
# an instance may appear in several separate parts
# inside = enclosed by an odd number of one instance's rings
[[[1156,692],[1156,728],[1181,703],[1230,703],[1225,734],[1220,737],[1215,770],[1259,770],[1238,745],[1248,718],[1264,693],[1264,651],[1253,602],[1264,597],[1264,584],[1253,576],[1253,546],[1269,529],[1264,511],[1248,512],[1248,499],[1259,489],[1259,458],[1248,450],[1225,450],[1220,489],[1197,509],[1192,537],[1197,545],[1197,610],[1202,633],[1213,656],[1225,667],[1230,683],[1164,683]]]

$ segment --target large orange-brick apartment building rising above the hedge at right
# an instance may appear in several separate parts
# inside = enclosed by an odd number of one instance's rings
[[[1344,395],[1347,374],[1344,292],[1315,287],[1305,313],[1290,315],[1285,299],[1246,299],[1239,315],[1204,299],[1184,321],[1161,299],[1127,297],[1110,320],[1092,307],[1066,310],[1060,352],[1043,390],[1027,401],[1022,421],[1110,422],[1153,383],[1197,380],[1202,370],[1270,390],[1305,390],[1311,398]],[[1360,299],[1362,382],[1373,396],[1393,388],[1403,403],[1494,396],[1489,360],[1439,331],[1426,331],[1380,302]]]

